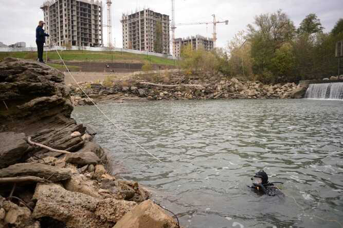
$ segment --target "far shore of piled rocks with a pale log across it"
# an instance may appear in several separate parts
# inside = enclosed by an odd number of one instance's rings
[[[148,75],[149,76],[149,75]],[[125,81],[84,82],[82,88],[95,102],[137,100],[208,100],[208,99],[297,99],[306,88],[295,83],[267,85],[261,82],[227,79],[222,75],[150,75]],[[74,105],[92,105],[78,86],[71,86]]]

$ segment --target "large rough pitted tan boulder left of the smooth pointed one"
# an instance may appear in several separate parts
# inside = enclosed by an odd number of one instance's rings
[[[97,198],[70,192],[59,184],[38,184],[33,199],[37,200],[32,217],[50,217],[67,227],[113,227],[136,203]]]

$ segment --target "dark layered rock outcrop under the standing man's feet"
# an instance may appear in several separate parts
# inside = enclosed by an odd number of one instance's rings
[[[16,58],[0,62],[0,101],[10,110],[0,112],[0,125],[21,120],[27,126],[47,117],[70,117],[73,110],[62,72]]]

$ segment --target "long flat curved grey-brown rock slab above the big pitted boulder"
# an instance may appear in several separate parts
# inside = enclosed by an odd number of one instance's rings
[[[0,177],[34,176],[53,182],[67,180],[71,177],[70,170],[39,163],[17,163],[0,169]]]

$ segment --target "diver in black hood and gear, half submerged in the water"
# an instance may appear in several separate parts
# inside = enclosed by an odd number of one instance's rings
[[[268,196],[283,195],[280,189],[275,186],[275,183],[283,184],[282,182],[268,182],[268,175],[260,170],[251,178],[252,185],[248,187],[254,189],[257,193],[267,194]]]

